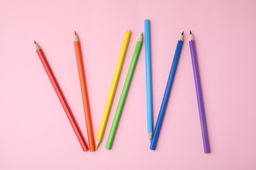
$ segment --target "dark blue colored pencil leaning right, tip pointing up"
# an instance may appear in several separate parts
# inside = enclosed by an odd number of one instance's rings
[[[176,47],[175,54],[174,54],[174,57],[173,57],[173,63],[171,65],[171,70],[170,70],[169,77],[168,77],[167,84],[166,84],[166,88],[165,88],[165,93],[163,95],[163,101],[161,102],[161,107],[160,107],[160,111],[159,111],[159,114],[158,114],[158,120],[156,121],[156,127],[154,129],[154,135],[153,135],[152,142],[151,142],[151,145],[150,145],[151,150],[155,150],[156,149],[156,143],[158,143],[158,137],[159,137],[159,134],[160,134],[161,124],[163,122],[163,116],[165,114],[165,110],[166,110],[166,107],[167,107],[169,95],[170,95],[170,92],[171,92],[171,87],[173,86],[173,79],[174,79],[174,76],[175,76],[175,72],[176,72],[176,69],[177,69],[179,57],[180,57],[180,54],[181,54],[183,39],[184,39],[184,35],[183,35],[183,32],[182,32],[181,37],[180,37],[180,39],[177,43],[177,47]]]

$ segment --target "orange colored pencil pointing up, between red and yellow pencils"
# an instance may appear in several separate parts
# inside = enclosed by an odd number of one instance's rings
[[[81,46],[79,39],[75,32],[74,37],[74,44],[75,44],[75,56],[77,59],[77,68],[79,73],[79,79],[80,79],[80,85],[81,85],[81,93],[83,98],[83,109],[85,112],[85,122],[87,127],[87,136],[89,141],[89,150],[94,151],[95,150],[95,139],[93,136],[93,124],[91,122],[91,112],[89,107],[89,99],[88,99],[88,92],[87,92],[87,86],[85,81],[85,72],[83,69],[83,58],[81,53]]]

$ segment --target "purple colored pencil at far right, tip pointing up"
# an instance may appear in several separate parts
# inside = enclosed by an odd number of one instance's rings
[[[199,69],[198,69],[198,59],[196,56],[196,46],[195,46],[194,37],[191,31],[189,35],[189,46],[190,46],[190,53],[191,53],[191,59],[192,59],[192,65],[193,65],[194,80],[196,84],[196,96],[198,98],[198,109],[199,109],[199,116],[200,116],[200,123],[201,123],[202,137],[203,137],[203,148],[204,148],[205,154],[207,154],[210,152],[209,139],[208,139],[208,133],[207,133],[207,127],[206,127],[205,112],[203,107],[203,95],[202,95],[202,88],[201,88],[200,75],[199,75]]]

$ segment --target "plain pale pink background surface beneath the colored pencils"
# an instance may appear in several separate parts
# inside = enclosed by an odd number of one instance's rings
[[[0,1],[0,169],[256,169],[255,1]],[[112,150],[104,148],[133,50],[151,20],[154,124],[184,45],[157,150],[146,130],[144,45]],[[74,30],[96,137],[125,30],[132,32],[106,133],[83,152],[35,52],[43,48],[87,140]],[[196,39],[211,154],[203,154],[188,33]]]

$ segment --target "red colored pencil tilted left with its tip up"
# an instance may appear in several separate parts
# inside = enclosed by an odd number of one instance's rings
[[[75,135],[77,136],[77,139],[78,139],[79,143],[81,144],[83,151],[88,150],[88,146],[85,143],[85,139],[83,139],[83,135],[81,134],[81,131],[80,131],[79,127],[77,126],[77,123],[75,122],[75,118],[70,110],[70,107],[68,106],[68,103],[67,103],[62,91],[60,90],[60,86],[58,85],[58,82],[56,81],[56,78],[53,75],[53,71],[51,70],[49,63],[48,63],[47,59],[45,58],[45,54],[43,54],[43,51],[41,50],[41,48],[39,47],[39,45],[36,42],[35,42],[35,49],[36,49],[36,52],[43,64],[43,67],[45,68],[47,75],[49,76],[49,79],[51,80],[51,83],[53,84],[53,88],[54,88],[56,94],[58,95],[58,99],[60,99],[60,103],[61,103],[64,111],[66,112],[66,115],[68,116],[68,120],[70,120],[70,124],[75,131]]]

